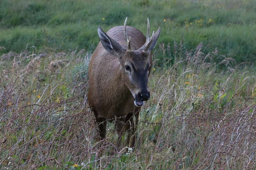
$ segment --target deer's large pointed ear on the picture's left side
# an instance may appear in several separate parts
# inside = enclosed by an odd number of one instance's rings
[[[120,56],[125,52],[125,49],[122,46],[120,46],[118,42],[108,37],[108,35],[100,28],[100,26],[98,27],[98,34],[99,34],[102,46],[110,54],[115,56]]]

